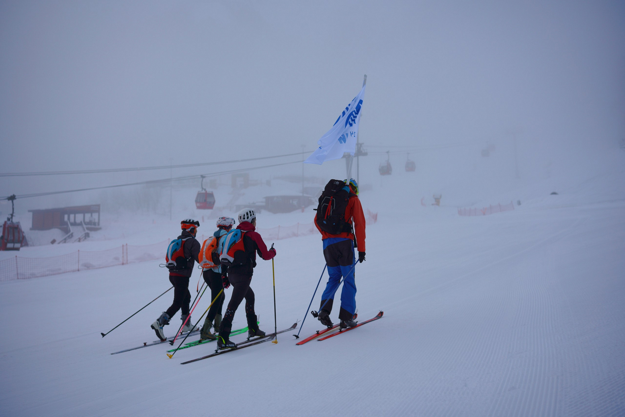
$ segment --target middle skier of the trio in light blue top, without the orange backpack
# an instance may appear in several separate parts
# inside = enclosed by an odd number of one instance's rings
[[[220,217],[217,219],[217,231],[213,233],[212,236],[218,239],[217,248],[221,248],[224,242],[224,238],[226,234],[232,229],[232,225],[234,225],[236,221],[234,221],[231,217]],[[219,258],[219,251],[216,251],[216,257]],[[219,291],[223,288],[221,276],[225,276],[227,273],[227,266],[219,264],[219,259],[215,259],[217,264],[214,268],[204,269],[202,272],[202,277],[204,277],[204,281],[206,281],[206,285],[211,289],[211,300],[214,300],[219,294]],[[202,326],[202,330],[200,332],[200,339],[206,340],[211,339],[214,340],[217,338],[216,334],[211,333],[212,321],[215,321],[215,333],[219,333],[219,326],[221,325],[221,308],[224,304],[224,299],[226,296],[222,293],[211,306],[211,309],[208,311],[208,315],[206,319],[204,319],[204,326]]]

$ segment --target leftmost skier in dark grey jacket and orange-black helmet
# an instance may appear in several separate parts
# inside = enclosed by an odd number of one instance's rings
[[[162,341],[167,340],[163,332],[163,326],[169,324],[169,319],[171,319],[174,314],[178,313],[179,309],[182,309],[180,318],[183,323],[187,316],[189,316],[189,303],[191,302],[189,278],[191,277],[195,260],[200,251],[200,244],[195,238],[197,228],[199,227],[199,221],[186,219],[180,222],[180,226],[181,229],[183,229],[183,233],[178,236],[178,239],[170,243],[168,248],[168,258],[171,258],[171,261],[168,261],[169,282],[174,286],[174,301],[167,311],[164,311],[151,326],[156,332],[156,336]],[[170,249],[174,246],[174,243],[178,243],[180,246],[176,253],[170,254]],[[191,330],[191,316],[189,316],[182,331]]]

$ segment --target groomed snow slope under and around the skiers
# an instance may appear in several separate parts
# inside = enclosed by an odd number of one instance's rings
[[[379,309],[382,319],[303,346],[284,333],[186,365],[213,346],[173,359],[169,344],[110,355],[152,341],[149,324],[171,297],[99,335],[167,285],[156,263],[0,284],[3,334],[42,320],[53,329],[47,343],[30,330],[0,341],[10,381],[0,406],[11,416],[206,414],[207,404],[224,416],[624,415],[624,214],[592,206],[417,219],[404,228],[421,237],[416,247],[389,242],[394,225],[382,220],[367,229],[367,261],[356,267],[359,319]],[[322,262],[316,236],[278,246],[278,328],[302,318]],[[252,288],[261,328],[272,330],[270,262]],[[241,306],[233,325],[244,320]],[[301,336],[319,328],[309,316]]]

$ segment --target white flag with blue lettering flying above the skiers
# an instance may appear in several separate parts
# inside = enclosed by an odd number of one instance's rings
[[[325,161],[342,158],[346,152],[352,155],[356,152],[356,138],[365,87],[362,86],[360,93],[347,105],[341,116],[334,122],[332,129],[321,136],[317,142],[319,148],[304,161],[305,164],[321,165]]]

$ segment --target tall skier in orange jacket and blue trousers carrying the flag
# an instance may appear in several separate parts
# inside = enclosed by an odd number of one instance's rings
[[[332,180],[330,183],[333,181],[341,187],[341,181]],[[330,183],[326,186],[326,190],[329,189]],[[344,277],[339,319],[341,320],[341,328],[345,329],[356,326],[356,322],[353,320],[354,313],[356,313],[356,281],[354,280],[354,265],[356,262],[354,248],[358,249],[358,261],[362,263],[365,260],[365,220],[360,199],[358,198],[358,184],[351,178],[349,181],[342,181],[342,185],[336,193],[326,196],[327,191],[324,191],[321,195],[314,224],[321,232],[323,255],[326,258],[327,272],[330,276],[326,289],[321,296],[321,307],[319,313],[317,313],[317,318],[325,326],[333,326],[329,316],[332,311],[332,303],[334,302],[334,291],[336,291],[341,277]],[[341,194],[337,195],[339,193]],[[324,197],[326,202],[329,199],[331,203],[329,203],[329,206],[326,203],[324,208],[321,209]],[[343,213],[331,213],[331,209],[344,211]],[[337,221],[334,221],[334,224],[342,223],[339,224],[338,228],[341,232],[329,233],[329,228],[325,224],[322,225],[323,228],[320,227],[319,218],[322,219],[323,216],[336,216]]]

